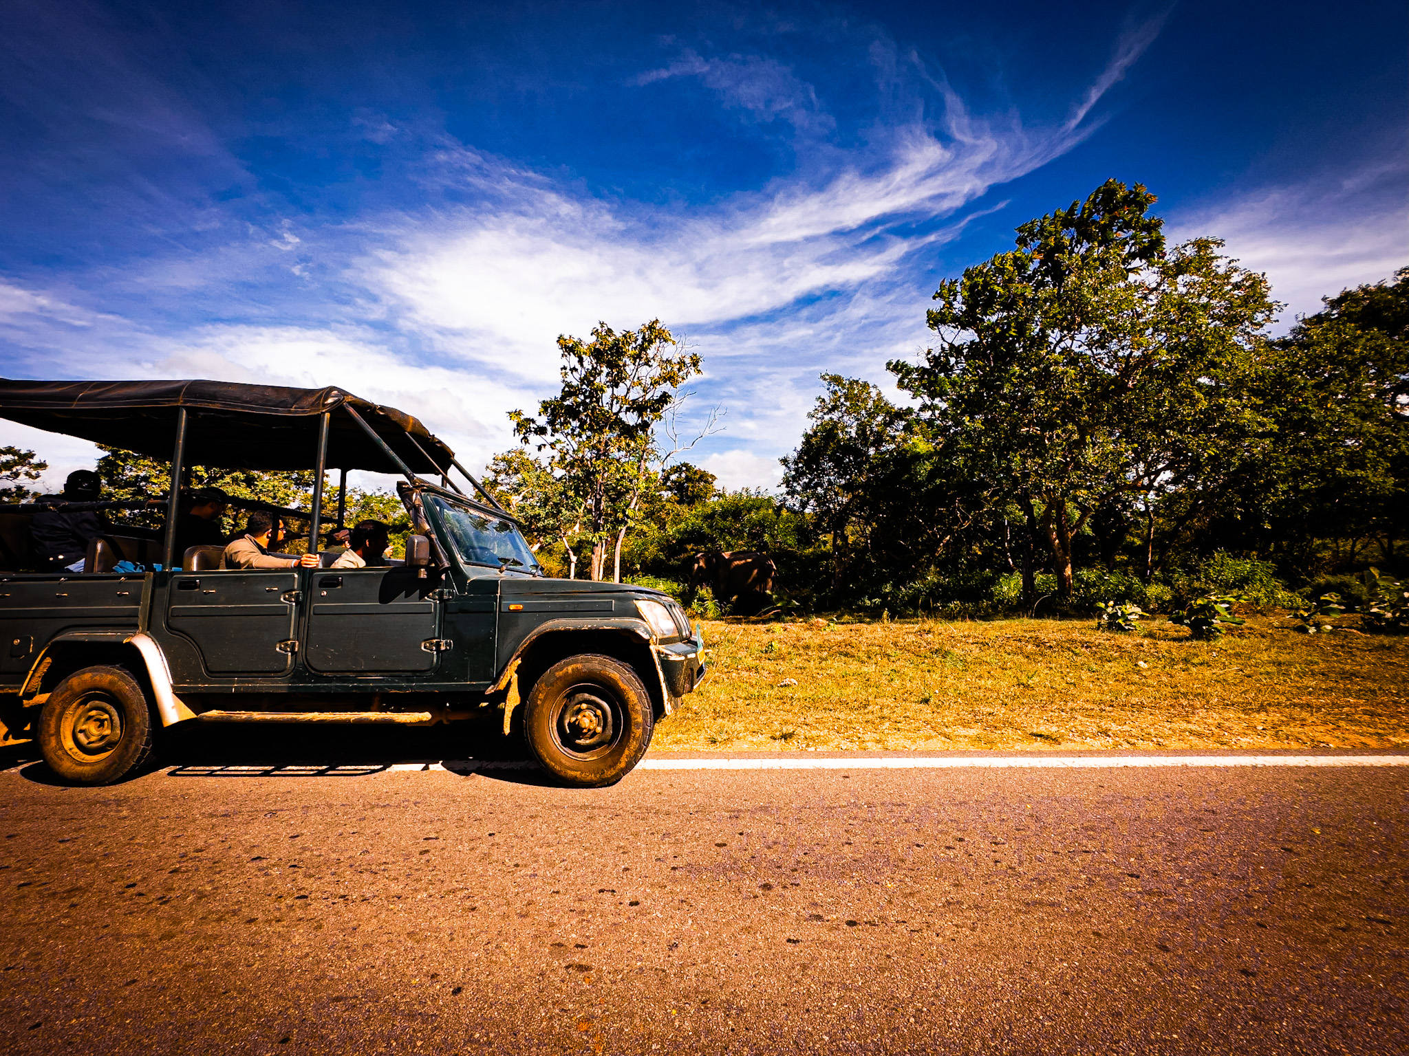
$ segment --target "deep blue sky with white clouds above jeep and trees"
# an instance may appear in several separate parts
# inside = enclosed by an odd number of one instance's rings
[[[1296,313],[1409,263],[1409,6],[0,0],[0,373],[340,384],[482,465],[659,317],[769,486],[1115,176]],[[0,427],[54,476],[90,446]]]

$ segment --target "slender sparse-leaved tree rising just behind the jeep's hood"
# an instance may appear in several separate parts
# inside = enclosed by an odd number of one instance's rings
[[[661,455],[655,432],[678,406],[678,390],[700,370],[695,352],[659,320],[617,334],[599,322],[592,341],[559,337],[562,389],[538,404],[538,417],[510,411],[521,444],[547,452],[555,487],[581,503],[581,532],[592,546],[592,579],[603,577],[607,539],[614,538],[614,579],[621,545],[654,477]],[[679,445],[676,445],[679,449]]]

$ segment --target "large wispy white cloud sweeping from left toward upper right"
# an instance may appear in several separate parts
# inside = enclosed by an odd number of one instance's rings
[[[238,237],[104,273],[108,303],[131,311],[82,307],[92,290],[8,284],[0,334],[11,369],[30,375],[52,375],[62,349],[68,376],[341,384],[417,414],[473,465],[511,442],[506,410],[551,390],[559,334],[661,318],[704,353],[696,406],[728,410],[699,458],[726,484],[772,483],[817,373],[875,376],[914,351],[929,290],[910,287],[913,260],[952,239],[991,189],[1081,142],[1153,32],[1127,37],[1074,117],[1024,127],[972,113],[943,76],[868,35],[862,51],[906,72],[914,106],[848,148],[826,141],[834,121],[790,66],[686,49],[638,75],[637,90],[692,80],[741,121],[785,122],[795,149],[812,151],[795,172],[686,207],[590,193],[438,134],[410,168],[418,206],[338,222],[217,211],[211,224]],[[193,120],[131,110],[168,138]],[[365,108],[352,124],[376,144],[411,135]],[[196,135],[197,153],[240,177],[207,138]],[[176,306],[200,318],[172,325]]]

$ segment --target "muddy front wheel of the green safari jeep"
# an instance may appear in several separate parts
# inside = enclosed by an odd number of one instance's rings
[[[655,708],[635,672],[610,656],[569,656],[534,683],[524,736],[564,784],[616,784],[645,755]]]

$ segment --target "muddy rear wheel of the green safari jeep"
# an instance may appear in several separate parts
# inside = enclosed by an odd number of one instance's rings
[[[37,739],[44,762],[65,781],[120,781],[152,753],[147,694],[121,667],[73,672],[45,701]]]

